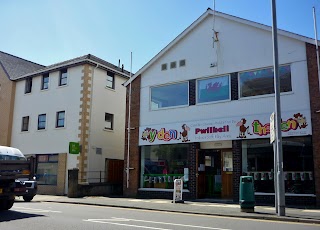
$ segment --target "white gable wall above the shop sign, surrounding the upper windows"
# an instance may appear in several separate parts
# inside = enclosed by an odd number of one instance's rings
[[[212,16],[206,18],[178,44],[142,73],[140,126],[271,113],[274,96],[150,111],[150,86],[240,72],[273,65],[271,32],[223,18],[216,18],[219,42],[212,46]],[[282,111],[309,110],[305,43],[278,36],[279,62],[291,64],[292,93],[281,96]],[[186,59],[185,67],[170,69],[171,61]],[[210,64],[217,62],[217,67]],[[161,64],[168,70],[161,71]]]

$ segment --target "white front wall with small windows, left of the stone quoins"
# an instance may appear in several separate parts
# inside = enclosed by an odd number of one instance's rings
[[[82,66],[68,69],[68,84],[58,86],[59,72],[49,75],[49,89],[40,90],[42,76],[33,77],[32,92],[24,94],[25,81],[18,81],[14,106],[12,146],[25,154],[68,153],[69,142],[79,140]],[[65,111],[65,127],[55,128],[56,113]],[[45,113],[45,130],[37,130],[38,115]],[[29,116],[29,131],[21,132],[22,117]],[[77,155],[68,154],[67,168],[76,167]]]

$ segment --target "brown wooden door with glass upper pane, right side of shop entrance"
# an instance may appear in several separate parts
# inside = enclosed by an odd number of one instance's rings
[[[221,197],[228,199],[233,197],[233,157],[231,150],[221,151],[222,190]]]

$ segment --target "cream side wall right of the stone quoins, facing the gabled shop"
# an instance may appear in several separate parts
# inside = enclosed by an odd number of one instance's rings
[[[90,128],[89,170],[105,170],[105,159],[124,159],[126,87],[127,80],[115,75],[115,89],[106,87],[107,72],[94,71],[92,115]],[[105,113],[114,115],[113,130],[104,129]],[[102,155],[96,154],[102,148]]]

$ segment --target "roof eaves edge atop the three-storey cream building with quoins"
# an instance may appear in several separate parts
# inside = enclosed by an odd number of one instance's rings
[[[129,78],[129,76],[130,76],[129,71],[126,71],[125,69],[122,69],[118,66],[115,66],[115,65],[113,65],[113,64],[111,64],[101,58],[98,58],[92,54],[87,54],[87,55],[73,58],[73,59],[70,59],[67,61],[63,61],[63,62],[59,62],[59,63],[53,64],[53,65],[49,65],[49,66],[43,67],[41,69],[38,69],[38,70],[35,70],[32,72],[28,72],[24,75],[20,75],[20,76],[16,77],[14,80],[20,80],[20,79],[24,79],[27,77],[33,77],[36,75],[41,75],[44,73],[57,71],[59,69],[68,68],[71,66],[76,66],[76,65],[81,65],[81,64],[95,65],[95,66],[98,66],[99,68],[112,71],[112,72],[116,73],[117,75],[124,77],[124,78]]]

